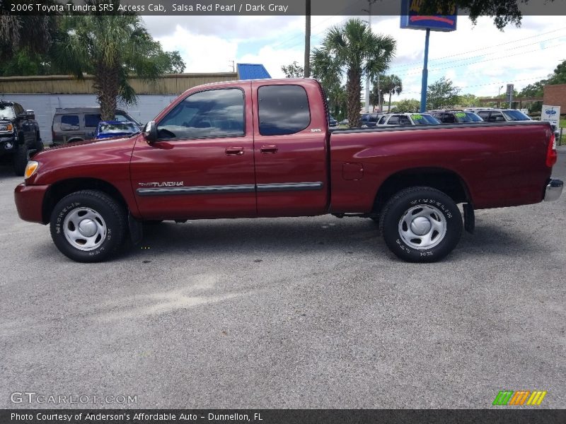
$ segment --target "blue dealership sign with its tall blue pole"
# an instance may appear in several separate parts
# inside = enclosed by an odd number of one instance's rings
[[[422,15],[420,13],[421,3],[422,0],[401,0],[401,28],[427,30],[427,35],[424,37],[424,64],[420,88],[420,112],[424,112],[427,109],[430,31],[455,31],[458,15],[456,6],[452,6],[451,15]]]

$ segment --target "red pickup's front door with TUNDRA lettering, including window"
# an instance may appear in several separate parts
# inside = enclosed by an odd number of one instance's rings
[[[199,90],[139,136],[132,188],[145,219],[255,216],[250,83]]]

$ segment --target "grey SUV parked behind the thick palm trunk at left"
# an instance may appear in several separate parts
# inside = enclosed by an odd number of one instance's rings
[[[140,129],[141,124],[124,110],[117,109],[116,121],[134,122]],[[57,108],[53,116],[53,146],[93,139],[100,122],[100,107],[63,107]]]

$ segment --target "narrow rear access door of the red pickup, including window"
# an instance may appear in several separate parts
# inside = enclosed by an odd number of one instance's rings
[[[258,215],[325,213],[328,117],[318,83],[254,81],[252,90],[258,111],[254,116]]]

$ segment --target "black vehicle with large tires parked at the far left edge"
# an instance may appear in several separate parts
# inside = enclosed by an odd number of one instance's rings
[[[0,100],[0,159],[11,159],[16,175],[23,175],[30,154],[43,149],[33,110]]]

